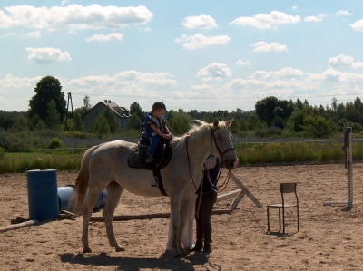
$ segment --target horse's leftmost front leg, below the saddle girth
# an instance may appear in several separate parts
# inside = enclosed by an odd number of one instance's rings
[[[182,232],[180,230],[181,206],[182,206],[182,198],[180,198],[180,197],[171,197],[172,250],[174,251],[174,257],[183,256],[183,253],[182,253]]]

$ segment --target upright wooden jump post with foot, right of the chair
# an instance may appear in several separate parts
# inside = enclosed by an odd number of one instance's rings
[[[324,206],[347,206],[348,208],[352,208],[353,201],[353,151],[352,151],[352,136],[351,136],[351,127],[347,127],[344,131],[344,145],[343,151],[345,158],[345,168],[347,169],[347,203],[345,202],[324,202]]]

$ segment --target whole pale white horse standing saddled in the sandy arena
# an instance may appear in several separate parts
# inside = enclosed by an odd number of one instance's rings
[[[231,120],[232,121],[232,120]],[[174,256],[183,256],[182,230],[193,208],[195,190],[202,179],[203,162],[209,154],[220,157],[228,169],[236,168],[238,159],[231,134],[227,130],[231,121],[201,122],[194,125],[188,135],[174,138],[172,160],[161,169],[163,187],[171,200],[172,249]],[[128,167],[128,157],[134,143],[116,140],[94,146],[83,155],[81,169],[74,185],[70,205],[74,212],[83,214],[83,253],[91,252],[88,245],[88,224],[93,207],[104,188],[107,200],[103,218],[111,247],[123,251],[113,232],[113,213],[123,189],[145,197],[161,197],[159,189],[152,188],[152,171]],[[88,189],[88,192],[87,192]]]

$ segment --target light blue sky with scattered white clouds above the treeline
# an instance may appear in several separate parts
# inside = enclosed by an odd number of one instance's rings
[[[85,95],[143,111],[353,102],[362,44],[360,0],[2,0],[0,110],[27,111],[47,75],[74,108]]]

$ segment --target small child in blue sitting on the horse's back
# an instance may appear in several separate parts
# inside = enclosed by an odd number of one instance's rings
[[[152,111],[146,115],[145,121],[142,123],[142,142],[149,143],[147,163],[155,160],[155,152],[162,138],[172,139],[172,133],[165,125],[165,111],[166,106],[163,102],[154,102]]]

